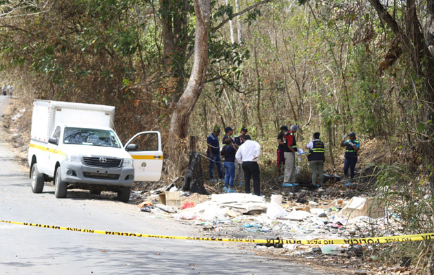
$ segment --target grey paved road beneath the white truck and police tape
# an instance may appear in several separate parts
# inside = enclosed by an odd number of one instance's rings
[[[0,114],[7,99],[0,96]],[[2,127],[3,128],[3,127]],[[0,136],[1,131],[0,129]],[[3,142],[3,139],[0,140]],[[54,197],[30,190],[27,168],[0,143],[0,219],[97,230],[194,236],[195,229],[149,217],[136,206],[87,191]],[[136,239],[0,223],[1,274],[319,274],[225,243]]]

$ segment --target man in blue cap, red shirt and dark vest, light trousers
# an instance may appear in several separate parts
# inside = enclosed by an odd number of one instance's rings
[[[298,148],[296,142],[296,133],[298,131],[297,125],[291,126],[291,131],[285,135],[287,146],[285,147],[285,179],[282,186],[296,187],[296,155],[298,155]]]

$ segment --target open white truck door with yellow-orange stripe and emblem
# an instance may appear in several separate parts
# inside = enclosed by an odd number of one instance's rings
[[[133,158],[134,181],[158,181],[163,168],[161,135],[158,131],[136,133],[125,144]]]

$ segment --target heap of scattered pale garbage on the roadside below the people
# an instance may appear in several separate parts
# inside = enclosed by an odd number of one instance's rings
[[[174,197],[169,193],[166,192],[165,197]],[[188,195],[178,193],[180,197]],[[369,235],[371,225],[386,223],[384,206],[373,198],[282,203],[281,195],[271,195],[267,202],[264,197],[251,194],[227,193],[213,194],[209,200],[196,205],[189,202],[188,197],[184,201],[183,206],[176,199],[166,201],[169,205],[148,201],[141,204],[141,209],[198,225],[205,235],[227,238],[359,238]],[[286,246],[291,250],[303,248],[303,245]]]

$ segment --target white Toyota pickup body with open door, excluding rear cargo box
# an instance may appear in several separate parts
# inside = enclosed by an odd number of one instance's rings
[[[56,107],[56,111],[61,109]],[[44,181],[53,179],[58,198],[66,197],[68,188],[81,188],[94,194],[112,190],[126,202],[134,181],[158,181],[161,177],[163,151],[158,131],[137,133],[123,146],[110,126],[65,122],[52,129],[45,140],[30,140],[35,193],[42,192]]]

